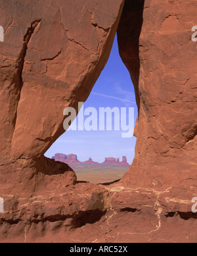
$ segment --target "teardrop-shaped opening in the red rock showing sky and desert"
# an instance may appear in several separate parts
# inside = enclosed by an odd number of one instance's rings
[[[88,120],[94,114],[89,112],[91,108],[97,112],[97,128],[93,125],[93,120]],[[102,109],[112,111],[112,118],[109,120],[111,130],[108,130],[107,114],[104,114],[104,119],[100,118]],[[95,184],[119,180],[135,155],[136,138],[133,137],[133,128],[136,118],[135,91],[129,72],[118,53],[116,35],[108,63],[83,104],[83,110],[79,111],[70,129],[53,143],[45,156],[68,163],[76,172],[77,180]],[[131,131],[122,130],[121,123],[124,121],[125,128],[129,125],[133,127],[132,135],[129,134]],[[87,123],[91,130],[87,129]],[[120,129],[116,127],[118,123]],[[123,138],[123,134],[129,138]]]

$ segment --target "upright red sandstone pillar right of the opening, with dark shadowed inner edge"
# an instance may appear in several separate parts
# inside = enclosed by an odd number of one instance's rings
[[[130,186],[196,188],[194,6],[195,1],[125,3],[118,42],[139,107],[135,160],[123,178]]]

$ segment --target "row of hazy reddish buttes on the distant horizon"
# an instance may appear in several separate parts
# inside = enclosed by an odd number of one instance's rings
[[[114,157],[105,157],[105,160],[103,163],[98,163],[93,161],[91,157],[89,157],[89,160],[81,162],[77,159],[77,155],[70,154],[70,155],[64,155],[61,153],[56,153],[55,156],[52,157],[52,159],[55,159],[55,161],[59,161],[62,163],[66,163],[72,167],[83,167],[83,166],[93,166],[93,165],[99,165],[99,166],[129,166],[127,163],[127,157],[123,156],[122,161],[120,162],[119,158]]]

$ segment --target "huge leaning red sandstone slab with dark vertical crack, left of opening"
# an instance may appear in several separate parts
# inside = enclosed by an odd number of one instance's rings
[[[122,7],[123,0],[3,4],[1,159],[40,157],[64,132],[64,108],[87,99]]]

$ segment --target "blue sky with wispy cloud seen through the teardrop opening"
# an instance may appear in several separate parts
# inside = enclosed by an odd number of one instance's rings
[[[117,37],[110,53],[108,63],[102,70],[89,98],[83,104],[83,109],[95,107],[99,115],[99,107],[127,108],[127,124],[129,107],[134,108],[134,120],[137,117],[135,92],[129,72],[122,63],[118,53]],[[84,120],[88,116],[84,116]],[[113,120],[113,119],[112,119]],[[136,138],[122,138],[122,130],[67,130],[45,153],[52,157],[55,153],[76,154],[79,161],[92,157],[93,161],[102,163],[104,157],[121,157],[125,155],[129,164],[133,161]]]

